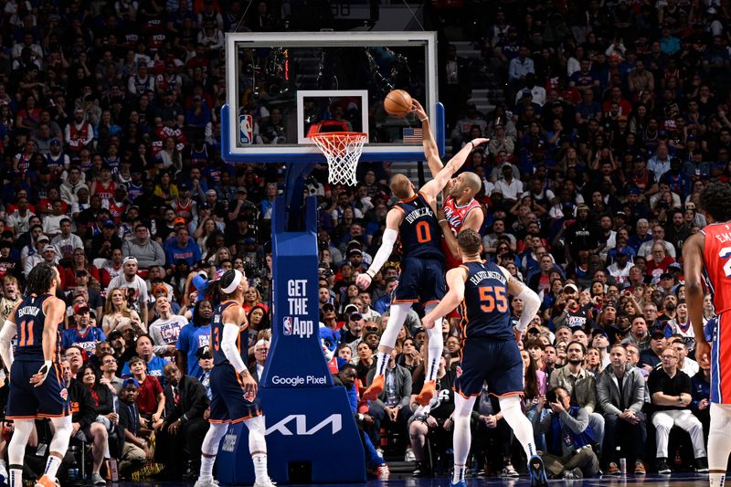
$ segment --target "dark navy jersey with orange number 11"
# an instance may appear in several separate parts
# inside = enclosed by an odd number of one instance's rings
[[[23,302],[18,305],[15,314],[17,331],[16,360],[43,360],[43,327],[46,324],[43,302],[49,297],[51,297],[50,294],[26,296]],[[60,324],[57,324],[57,345],[53,354],[53,361],[56,363],[59,362],[58,347],[61,344],[61,336],[58,333]]]

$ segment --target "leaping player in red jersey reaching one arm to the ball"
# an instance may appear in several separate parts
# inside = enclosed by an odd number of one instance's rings
[[[437,143],[429,127],[429,116],[418,101],[414,100],[413,103],[412,111],[418,117],[423,129],[422,143],[429,163],[429,171],[431,171],[431,177],[437,177],[444,164],[441,162]],[[481,188],[480,176],[471,172],[457,175],[444,187],[444,205],[438,212],[438,217],[444,237],[441,243],[444,255],[447,257],[447,270],[459,267],[462,263],[457,255],[459,249],[457,235],[466,228],[480,233],[484,214],[480,203],[474,199],[474,196],[480,192]]]

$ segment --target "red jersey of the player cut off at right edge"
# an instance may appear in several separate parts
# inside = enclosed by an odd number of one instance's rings
[[[717,314],[731,310],[731,224],[708,225],[705,235],[704,262],[706,283],[713,292]]]

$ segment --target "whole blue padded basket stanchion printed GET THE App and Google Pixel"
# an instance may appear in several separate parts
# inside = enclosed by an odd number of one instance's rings
[[[297,187],[288,181],[288,191]],[[296,213],[293,201],[292,195],[278,197],[271,222],[274,317],[259,389],[270,477],[290,482],[290,466],[296,462],[311,465],[314,483],[365,482],[365,453],[355,418],[344,387],[333,386],[320,345],[317,202],[314,196],[306,200],[303,231],[288,232],[287,219]],[[221,441],[216,478],[254,482],[244,423],[231,425]]]

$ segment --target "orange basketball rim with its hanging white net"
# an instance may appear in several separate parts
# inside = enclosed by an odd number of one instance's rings
[[[327,180],[331,185],[357,185],[355,169],[365,139],[366,134],[361,132],[323,132],[310,136],[327,158]]]

